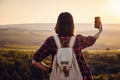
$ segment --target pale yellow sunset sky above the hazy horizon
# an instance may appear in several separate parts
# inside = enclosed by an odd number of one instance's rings
[[[75,23],[120,23],[120,0],[0,0],[0,25],[56,23],[61,12],[72,14]]]

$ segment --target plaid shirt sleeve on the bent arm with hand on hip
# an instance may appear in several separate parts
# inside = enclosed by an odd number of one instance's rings
[[[51,38],[47,38],[44,44],[35,52],[33,59],[41,62],[45,57],[51,54]]]

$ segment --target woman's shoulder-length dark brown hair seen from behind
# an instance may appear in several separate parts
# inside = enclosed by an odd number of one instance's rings
[[[58,20],[54,30],[58,35],[73,36],[74,22],[72,15],[68,12],[61,13],[58,16]]]

